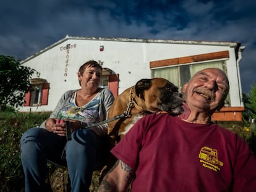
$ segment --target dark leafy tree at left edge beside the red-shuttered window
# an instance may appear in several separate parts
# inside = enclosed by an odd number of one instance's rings
[[[30,87],[34,69],[20,64],[12,56],[0,55],[0,111],[20,107]]]

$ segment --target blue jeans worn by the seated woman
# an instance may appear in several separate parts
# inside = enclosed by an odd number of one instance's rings
[[[45,191],[47,162],[63,164],[61,154],[65,144],[72,191],[89,191],[93,170],[104,162],[106,138],[100,138],[92,130],[79,129],[66,143],[66,137],[44,128],[31,128],[20,139],[25,191]]]

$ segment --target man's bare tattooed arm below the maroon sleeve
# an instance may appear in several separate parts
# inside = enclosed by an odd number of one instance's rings
[[[98,192],[126,191],[133,176],[134,169],[118,159],[112,169],[106,173]]]

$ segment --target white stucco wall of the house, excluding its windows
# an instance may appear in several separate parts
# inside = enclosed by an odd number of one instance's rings
[[[63,49],[70,44],[71,48]],[[119,93],[141,78],[151,78],[150,62],[176,57],[193,56],[209,52],[229,51],[227,61],[231,93],[231,106],[241,106],[239,79],[234,47],[230,43],[195,43],[193,41],[113,41],[109,39],[65,38],[42,50],[25,61],[23,65],[40,72],[40,78],[50,83],[47,106],[22,107],[20,111],[52,111],[61,95],[80,88],[77,71],[84,62],[93,59],[103,62],[102,67],[119,74]],[[104,51],[100,51],[104,46]],[[66,75],[65,75],[66,74]]]

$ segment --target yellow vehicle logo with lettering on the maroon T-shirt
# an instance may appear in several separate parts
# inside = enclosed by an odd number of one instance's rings
[[[219,152],[216,149],[204,146],[200,150],[198,157],[203,167],[207,167],[215,172],[218,172],[220,167],[223,166],[223,162],[219,161]]]

